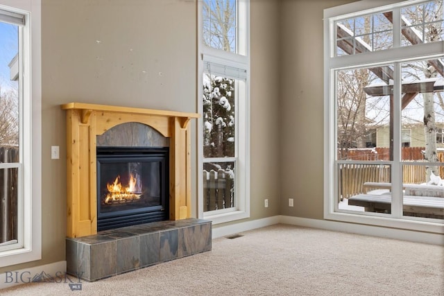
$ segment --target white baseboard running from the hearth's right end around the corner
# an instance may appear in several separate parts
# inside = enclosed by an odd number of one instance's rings
[[[291,216],[273,216],[258,220],[247,221],[244,223],[241,222],[233,225],[221,226],[217,228],[213,227],[212,236],[213,238],[219,238],[221,236],[229,236],[232,234],[237,234],[239,232],[246,232],[248,230],[275,225],[278,223],[332,230],[335,232],[348,232],[352,234],[363,234],[367,236],[394,238],[402,241],[412,241],[416,243],[444,245],[443,234],[416,232],[413,230],[406,230],[406,229],[394,229],[388,227],[361,225],[361,224],[344,223],[331,220],[318,220],[318,219],[300,218],[300,217],[291,217]]]

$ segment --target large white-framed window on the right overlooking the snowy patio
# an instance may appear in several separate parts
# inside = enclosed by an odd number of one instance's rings
[[[358,1],[324,19],[325,218],[442,232],[443,1]]]

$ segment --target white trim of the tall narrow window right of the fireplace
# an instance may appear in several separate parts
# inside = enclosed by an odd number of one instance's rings
[[[198,119],[197,133],[198,133],[198,218],[211,220],[213,225],[219,223],[230,222],[250,217],[250,1],[241,1],[241,10],[246,12],[246,28],[239,26],[239,30],[244,31],[246,35],[246,42],[238,42],[237,46],[241,46],[240,51],[244,51],[245,55],[236,53],[228,53],[219,49],[212,49],[205,46],[202,42],[203,28],[202,28],[202,1],[198,1],[198,110],[202,112],[202,89],[203,89],[203,62],[210,61],[218,64],[226,64],[230,67],[237,67],[239,69],[247,70],[246,78],[246,100],[244,104],[238,105],[237,114],[242,116],[243,121],[239,121],[237,126],[237,149],[239,154],[236,162],[236,192],[235,197],[237,204],[234,208],[220,209],[216,211],[203,211],[203,118]],[[240,13],[239,13],[240,14]],[[240,23],[238,21],[238,23]],[[239,48],[238,48],[239,49]],[[244,134],[245,137],[242,137]]]

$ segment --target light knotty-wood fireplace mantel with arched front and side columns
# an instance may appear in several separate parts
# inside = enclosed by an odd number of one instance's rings
[[[170,220],[191,217],[189,120],[197,113],[67,103],[67,236],[97,233],[96,136],[121,123],[138,122],[170,138]]]

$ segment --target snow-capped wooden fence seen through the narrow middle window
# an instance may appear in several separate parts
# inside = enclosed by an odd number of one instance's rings
[[[234,180],[223,170],[203,171],[205,211],[234,207]]]

